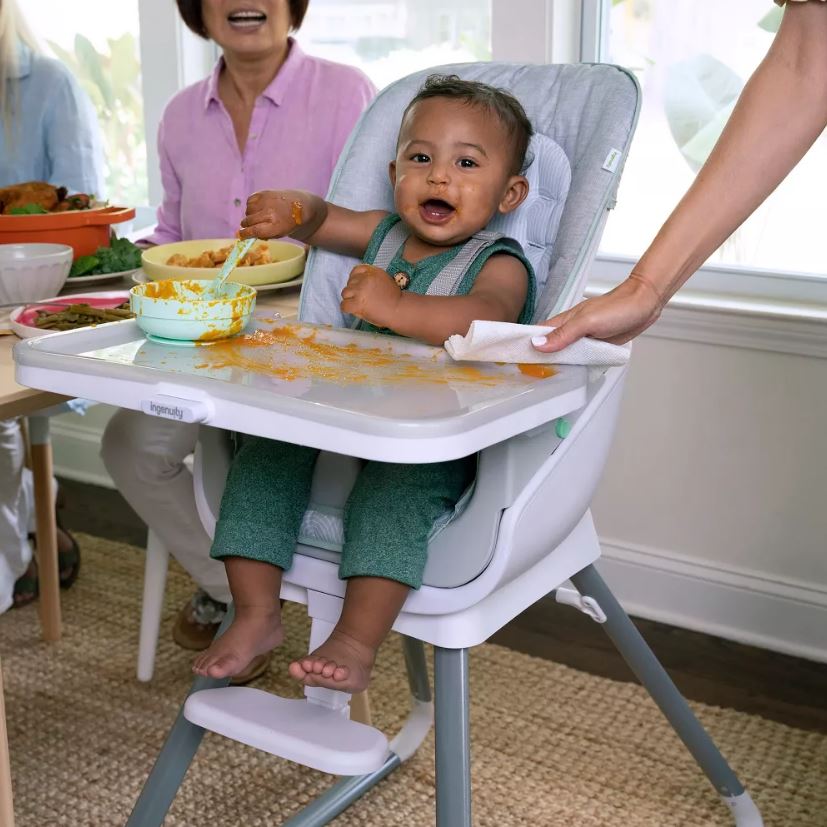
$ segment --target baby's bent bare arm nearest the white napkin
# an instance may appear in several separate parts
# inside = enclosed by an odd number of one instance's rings
[[[508,254],[491,256],[467,296],[422,296],[400,290],[384,270],[353,268],[342,290],[342,310],[402,336],[441,345],[468,332],[475,319],[516,322],[528,293],[523,263]]]

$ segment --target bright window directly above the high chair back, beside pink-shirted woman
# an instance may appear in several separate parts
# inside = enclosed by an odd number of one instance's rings
[[[313,0],[298,41],[378,88],[444,63],[491,59],[491,0]]]

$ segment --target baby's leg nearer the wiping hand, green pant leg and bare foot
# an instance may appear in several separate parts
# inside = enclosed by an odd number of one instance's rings
[[[379,644],[411,588],[422,585],[428,535],[474,478],[476,458],[426,465],[369,462],[345,510],[339,576],[347,579],[342,615],[330,637],[290,664],[308,686],[360,692]]]

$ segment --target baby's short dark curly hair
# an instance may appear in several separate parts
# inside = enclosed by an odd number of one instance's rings
[[[512,173],[522,171],[528,151],[528,142],[534,134],[531,121],[523,105],[510,92],[480,83],[476,80],[463,80],[459,75],[429,75],[411,102],[405,107],[402,120],[411,107],[428,98],[450,98],[460,100],[469,106],[479,106],[494,114],[505,127],[514,147],[514,165]]]

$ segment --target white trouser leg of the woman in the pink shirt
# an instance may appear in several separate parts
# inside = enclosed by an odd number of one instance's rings
[[[101,458],[118,490],[169,553],[213,600],[230,600],[224,564],[195,506],[184,460],[195,450],[198,425],[121,409],[103,434]]]

